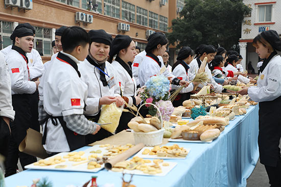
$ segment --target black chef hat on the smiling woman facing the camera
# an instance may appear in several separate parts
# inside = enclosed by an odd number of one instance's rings
[[[106,45],[111,45],[112,36],[110,34],[107,34],[102,29],[90,30],[88,34],[91,42],[98,42],[98,43],[104,43]]]

